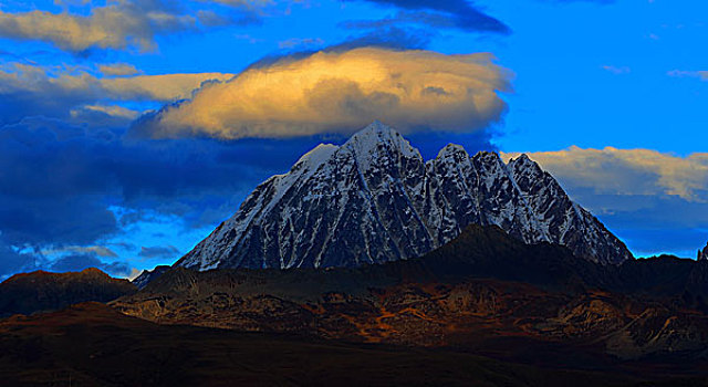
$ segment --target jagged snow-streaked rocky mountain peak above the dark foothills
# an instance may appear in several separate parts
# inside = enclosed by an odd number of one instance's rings
[[[528,157],[504,164],[448,145],[424,161],[378,122],[342,146],[320,145],[261,184],[239,211],[176,265],[357,266],[423,255],[470,224],[497,224],[527,242],[620,263],[631,253]]]

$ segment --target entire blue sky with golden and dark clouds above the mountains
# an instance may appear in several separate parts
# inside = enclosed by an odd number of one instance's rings
[[[171,263],[257,184],[374,118],[426,157],[449,142],[528,153],[636,255],[694,257],[708,240],[706,11],[3,1],[0,276]],[[398,95],[381,81],[394,76],[434,93]]]

